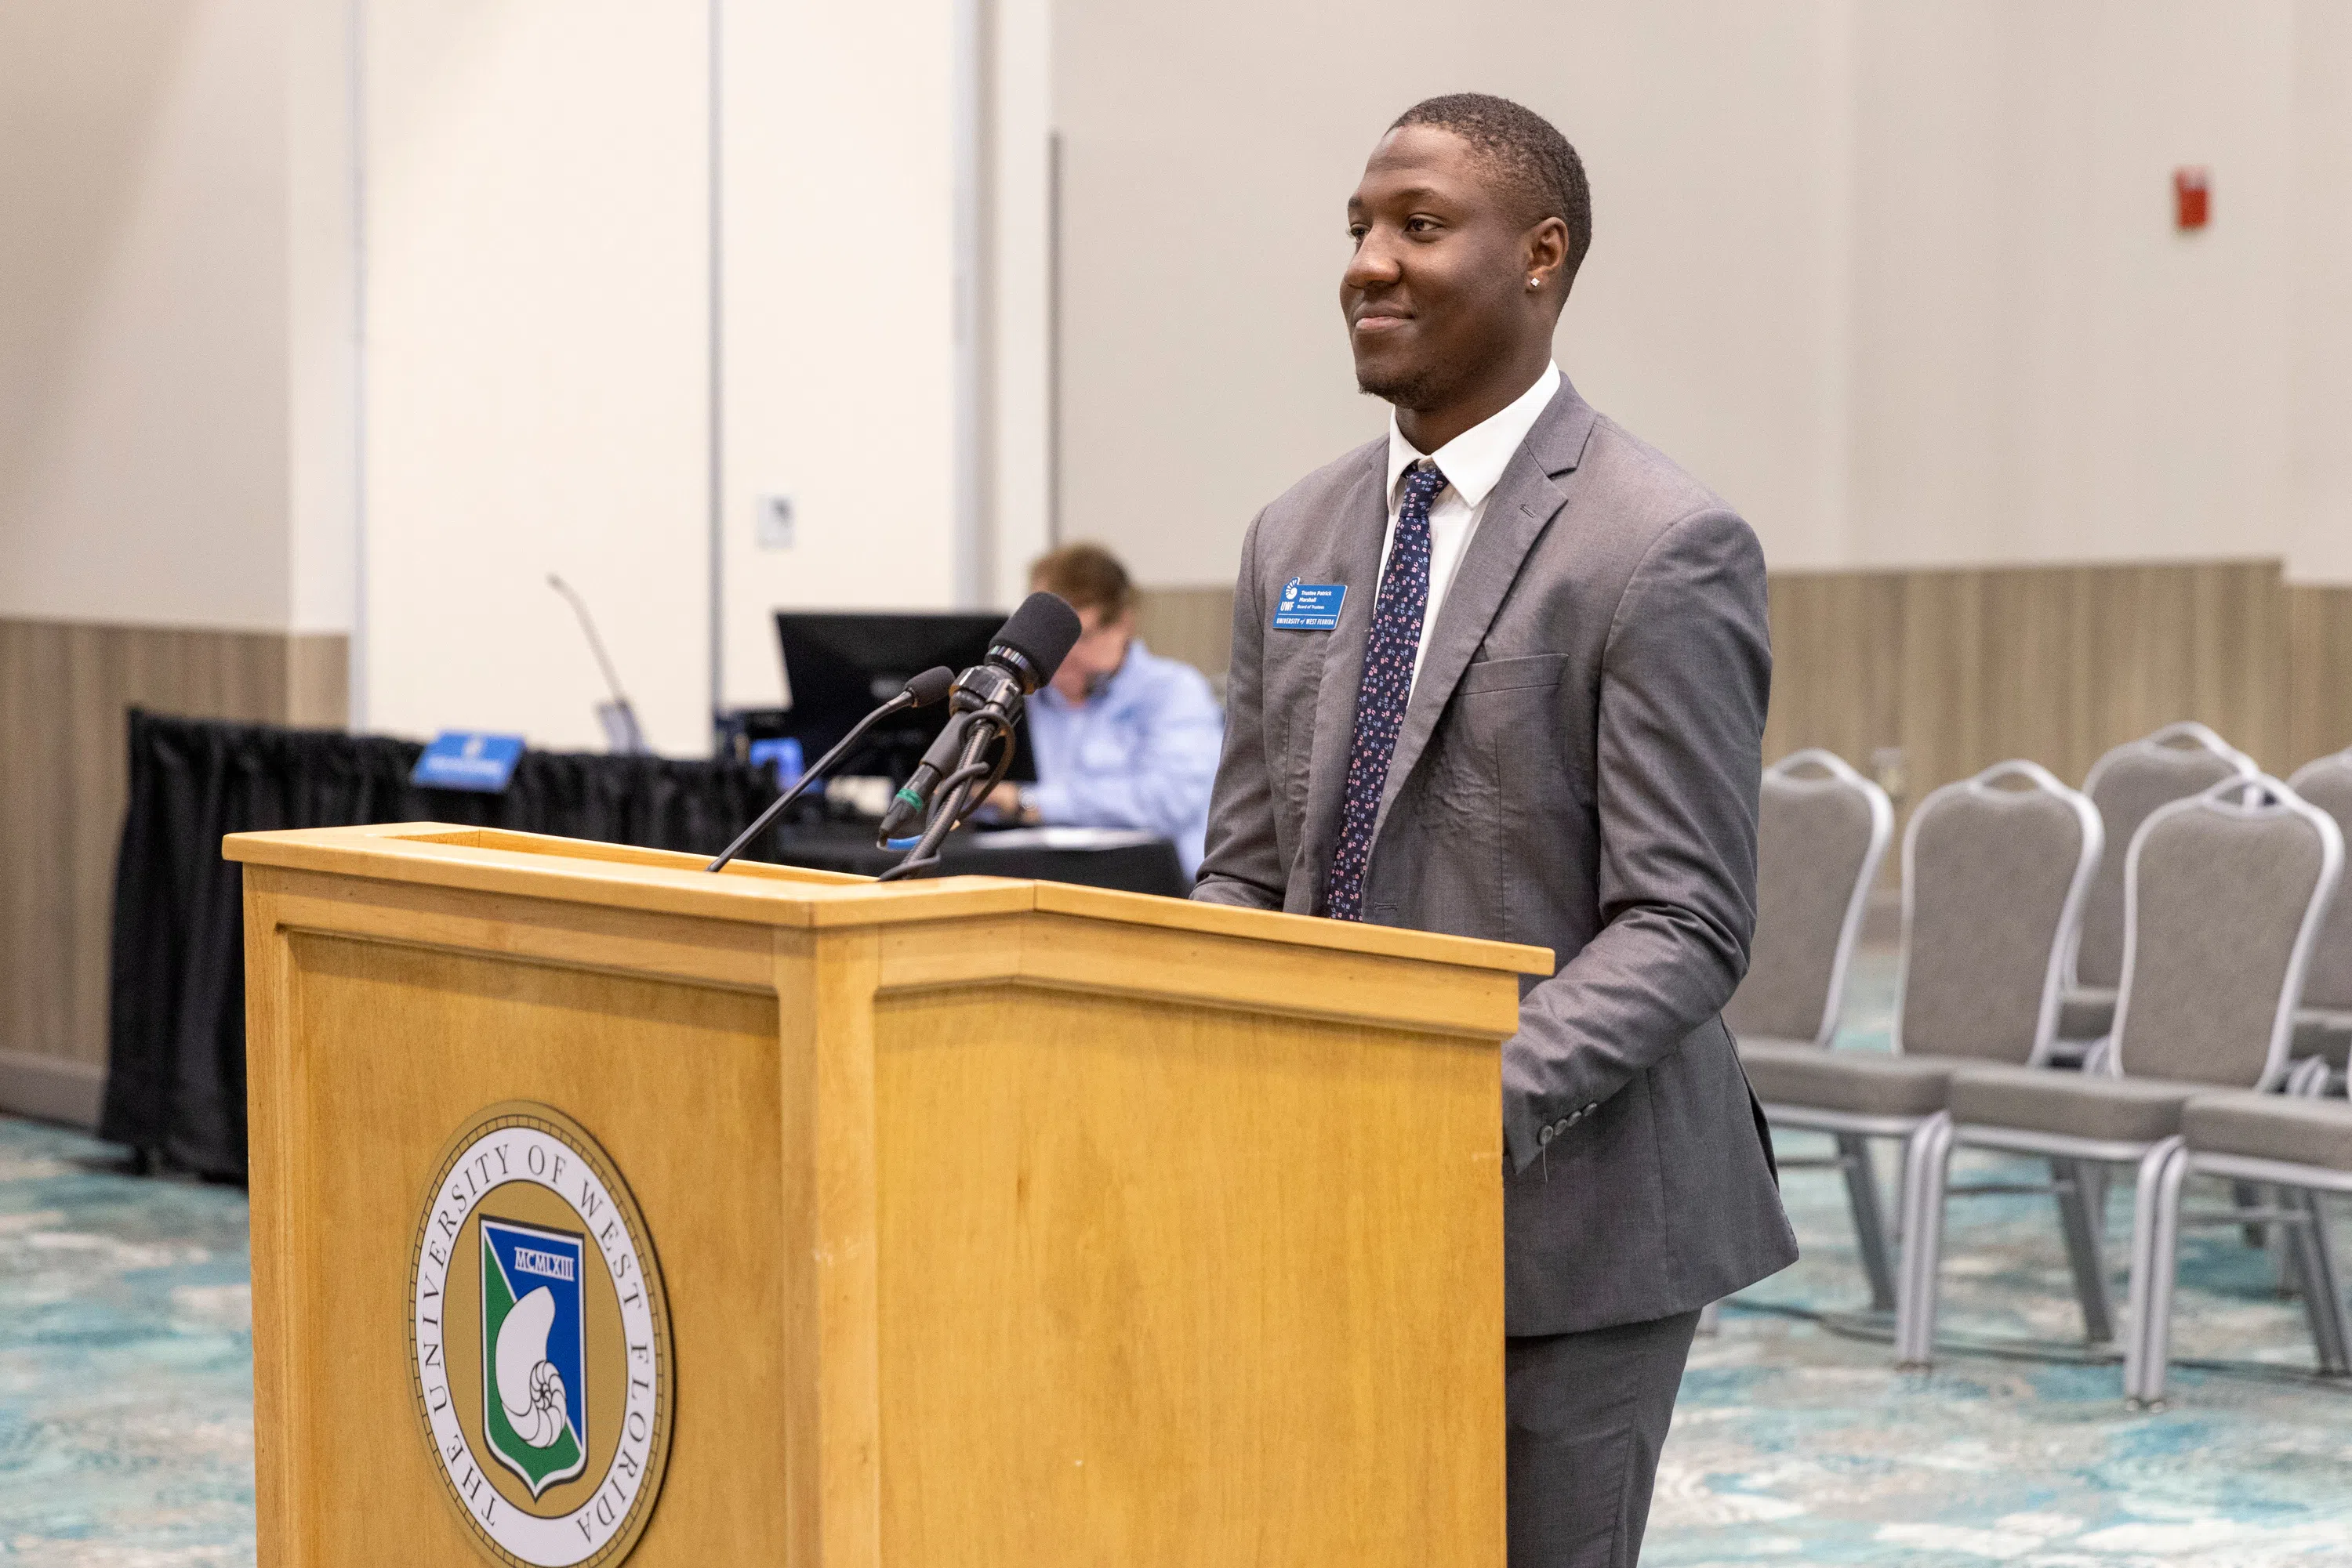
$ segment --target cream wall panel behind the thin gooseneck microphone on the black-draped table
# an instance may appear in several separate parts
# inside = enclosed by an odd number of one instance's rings
[[[708,748],[706,19],[367,5],[369,729],[602,745],[557,571],[654,745]]]

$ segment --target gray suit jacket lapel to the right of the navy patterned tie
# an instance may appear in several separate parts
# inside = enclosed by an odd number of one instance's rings
[[[1430,651],[1421,658],[1421,675],[1414,677],[1414,696],[1404,705],[1404,726],[1397,731],[1388,783],[1381,788],[1381,813],[1371,825],[1374,846],[1381,842],[1381,825],[1388,823],[1388,804],[1397,799],[1397,790],[1428,750],[1437,715],[1454,696],[1477,644],[1486,639],[1486,628],[1503,609],[1503,595],[1517,581],[1519,564],[1566,503],[1569,494],[1555,480],[1564,480],[1583,461],[1592,421],[1592,404],[1562,378],[1552,402],[1536,416],[1536,425],[1503,470],[1503,480],[1486,496],[1470,548],[1454,569],[1446,602],[1437,609],[1437,628],[1430,632]],[[1362,642],[1359,637],[1357,670],[1362,670]],[[1324,689],[1329,691],[1329,672]],[[1352,724],[1352,703],[1348,717]],[[1345,741],[1341,745],[1345,748]],[[1345,773],[1345,759],[1341,771]]]

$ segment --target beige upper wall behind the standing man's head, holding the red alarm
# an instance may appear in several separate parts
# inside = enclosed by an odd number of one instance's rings
[[[1056,7],[1063,527],[1216,583],[1352,395],[1341,202],[1463,87],[1592,176],[1578,388],[1776,567],[2352,578],[2352,24],[2326,0]],[[1411,38],[1411,47],[1397,47]],[[2171,169],[2213,169],[2178,235]]]

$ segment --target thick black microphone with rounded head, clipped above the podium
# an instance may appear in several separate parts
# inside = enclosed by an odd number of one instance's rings
[[[955,677],[955,689],[948,693],[948,726],[891,797],[875,835],[889,846],[915,823],[927,823],[922,839],[906,860],[882,872],[882,882],[938,865],[938,844],[1011,766],[1014,726],[1025,701],[1054,679],[1082,632],[1075,609],[1056,595],[1033,592],[990,639],[988,656]],[[993,764],[985,762],[990,745],[997,745]]]

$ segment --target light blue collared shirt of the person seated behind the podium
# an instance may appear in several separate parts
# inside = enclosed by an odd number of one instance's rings
[[[1141,827],[1200,872],[1225,715],[1209,679],[1143,642],[1087,703],[1047,686],[1028,703],[1037,816],[1056,827]]]

